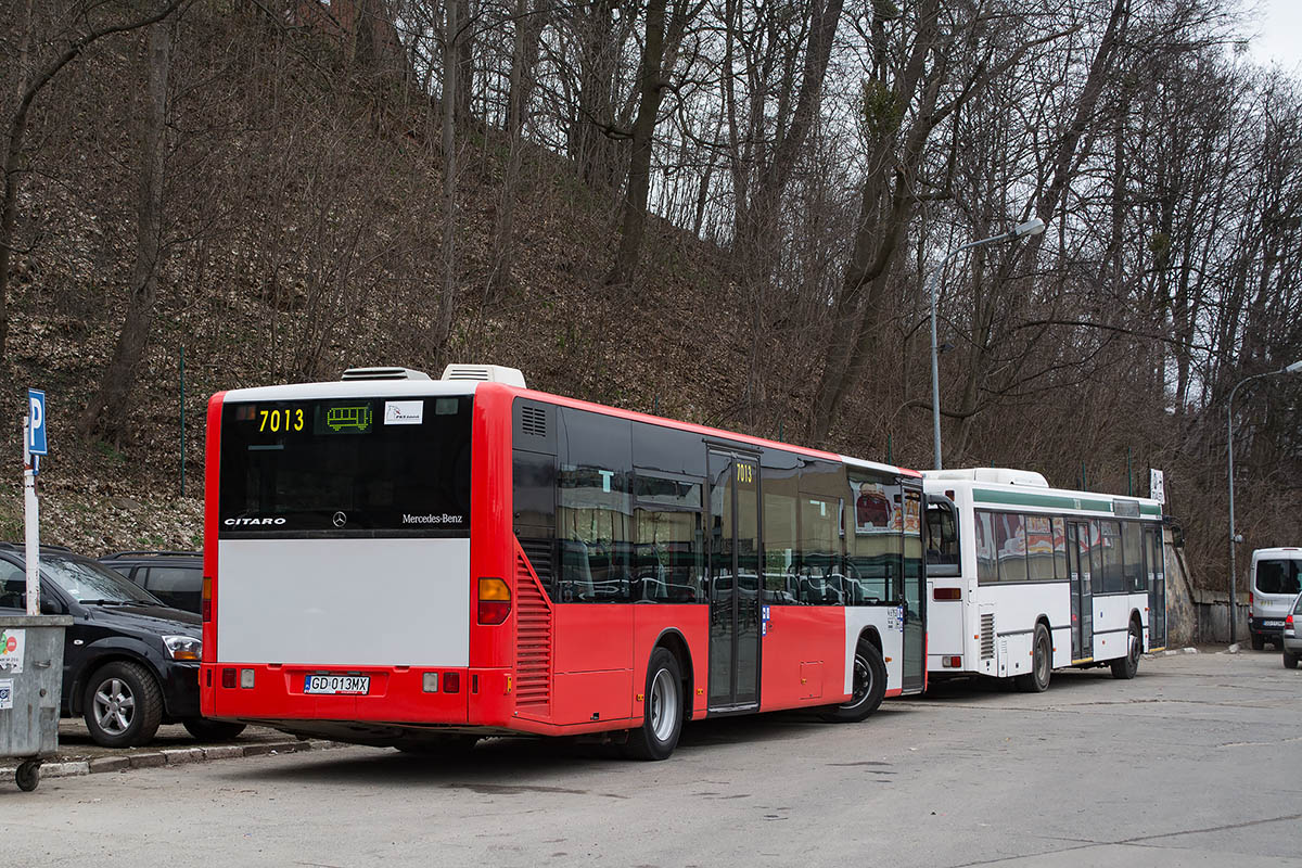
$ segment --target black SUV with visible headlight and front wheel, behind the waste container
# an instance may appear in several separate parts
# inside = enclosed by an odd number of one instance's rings
[[[0,543],[0,612],[25,613],[26,591],[23,549]],[[243,730],[199,716],[199,616],[56,547],[40,549],[40,610],[73,617],[64,638],[62,713],[85,717],[98,744],[145,744],[163,722],[212,740]]]

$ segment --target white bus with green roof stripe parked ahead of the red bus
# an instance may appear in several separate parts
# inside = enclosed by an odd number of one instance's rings
[[[1165,645],[1161,506],[1049,488],[1040,474],[923,472],[927,674],[1048,687],[1053,669],[1134,678]]]

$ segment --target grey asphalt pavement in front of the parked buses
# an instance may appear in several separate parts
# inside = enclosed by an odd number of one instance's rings
[[[700,721],[664,763],[491,739],[0,786],[17,865],[1216,865],[1302,868],[1302,671],[1144,660],[888,701],[858,725]]]

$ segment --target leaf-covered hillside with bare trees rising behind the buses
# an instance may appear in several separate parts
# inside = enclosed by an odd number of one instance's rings
[[[219,389],[535,388],[1147,493],[1224,584],[1302,359],[1302,104],[1232,0],[0,0],[0,413],[44,534],[197,545]],[[186,497],[180,497],[181,359]],[[1302,377],[1234,400],[1299,544]],[[18,465],[0,536],[21,536]],[[1242,560],[1241,560],[1242,566]]]

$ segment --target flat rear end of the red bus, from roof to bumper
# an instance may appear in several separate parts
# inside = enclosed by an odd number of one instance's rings
[[[475,387],[361,370],[211,400],[206,716],[376,744],[466,722]]]

